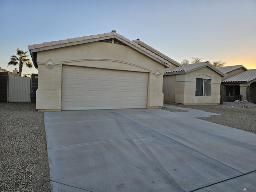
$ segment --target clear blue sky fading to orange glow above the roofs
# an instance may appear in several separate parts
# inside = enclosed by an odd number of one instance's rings
[[[256,68],[256,0],[0,0],[0,67],[18,68],[7,67],[17,47],[112,30],[177,62]]]

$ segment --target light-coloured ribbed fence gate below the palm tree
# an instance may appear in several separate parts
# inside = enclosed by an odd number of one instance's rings
[[[30,77],[9,76],[8,102],[30,102]]]

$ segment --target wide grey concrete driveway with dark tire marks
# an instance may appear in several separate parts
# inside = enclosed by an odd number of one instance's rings
[[[256,192],[256,134],[161,109],[44,112],[53,192]]]

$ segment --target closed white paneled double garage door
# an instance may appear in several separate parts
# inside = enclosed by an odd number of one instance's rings
[[[148,74],[62,66],[62,110],[146,108]]]

